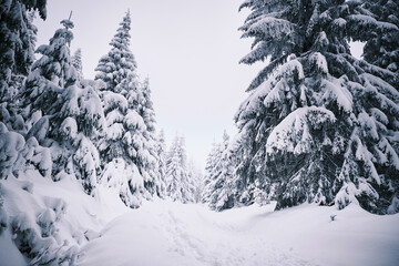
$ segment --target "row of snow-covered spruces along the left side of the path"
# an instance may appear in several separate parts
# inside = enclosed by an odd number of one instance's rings
[[[12,1],[2,10],[1,178],[34,167],[54,182],[75,177],[92,196],[99,185],[116,190],[130,207],[153,196],[193,202],[184,137],[167,152],[156,132],[150,82],[130,50],[130,12],[95,79],[86,80],[82,51],[70,52],[72,20],[35,49],[34,10],[45,18],[45,1]]]

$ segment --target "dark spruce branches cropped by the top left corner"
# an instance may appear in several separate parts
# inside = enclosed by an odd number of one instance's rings
[[[0,101],[12,102],[18,92],[13,78],[29,73],[33,62],[28,10],[38,10],[45,19],[47,1],[14,0],[0,4]],[[19,83],[19,82],[17,82]]]

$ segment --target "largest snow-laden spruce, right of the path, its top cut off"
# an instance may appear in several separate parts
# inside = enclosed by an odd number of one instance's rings
[[[398,212],[398,92],[347,42],[367,41],[381,24],[360,1],[247,0],[241,8],[252,10],[243,37],[254,38],[242,63],[270,61],[235,116],[235,201],[250,204],[259,188],[277,208],[358,202]]]

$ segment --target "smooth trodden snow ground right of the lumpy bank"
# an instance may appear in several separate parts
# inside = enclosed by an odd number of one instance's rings
[[[168,201],[144,203],[109,223],[78,258],[90,265],[398,265],[399,214],[351,205],[273,205],[222,213]],[[336,215],[335,221],[330,216]]]

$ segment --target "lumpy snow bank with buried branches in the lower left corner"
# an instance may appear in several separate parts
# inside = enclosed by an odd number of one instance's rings
[[[73,263],[88,238],[129,209],[119,196],[108,193],[99,187],[94,198],[72,175],[53,182],[33,170],[19,178],[0,180],[0,219],[6,221],[0,266]],[[24,257],[18,247],[31,257]]]

